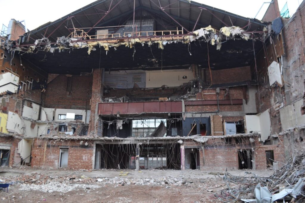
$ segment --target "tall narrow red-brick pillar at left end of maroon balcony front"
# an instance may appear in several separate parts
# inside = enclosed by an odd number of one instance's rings
[[[103,97],[103,69],[93,69],[92,94],[91,94],[91,114],[89,120],[88,135],[97,133],[97,125],[99,115],[97,112],[99,102],[102,102]]]

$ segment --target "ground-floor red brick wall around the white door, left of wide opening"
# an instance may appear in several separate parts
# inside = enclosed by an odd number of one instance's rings
[[[45,148],[45,142],[47,142]],[[52,139],[35,139],[32,148],[32,167],[58,168],[60,147],[69,148],[69,169],[92,169],[93,141],[65,140],[55,143]],[[88,142],[88,146],[85,143]],[[46,149],[46,150],[45,150]],[[44,161],[45,154],[45,161]]]

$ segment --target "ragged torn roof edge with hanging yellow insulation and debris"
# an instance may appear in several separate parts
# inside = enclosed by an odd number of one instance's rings
[[[131,38],[131,39],[123,39],[124,42],[119,42],[116,38],[109,38],[109,39],[104,39],[104,40],[99,40],[99,41],[95,41],[94,39],[92,41],[85,41],[85,42],[74,42],[75,39],[73,38],[69,38],[69,37],[60,37],[57,39],[55,46],[51,47],[51,43],[49,42],[49,40],[47,38],[43,38],[43,39],[38,39],[35,41],[35,46],[28,46],[28,48],[26,48],[27,45],[20,45],[17,47],[12,48],[11,46],[5,46],[6,43],[8,42],[3,42],[2,46],[5,48],[10,47],[11,50],[18,50],[18,51],[24,51],[27,53],[33,53],[34,50],[37,48],[36,45],[39,44],[40,45],[40,41],[47,41],[44,48],[40,49],[46,52],[51,52],[54,53],[55,50],[59,50],[59,52],[61,50],[64,49],[70,49],[70,48],[86,48],[88,47],[88,54],[91,53],[91,50],[96,50],[95,46],[99,46],[99,47],[104,47],[105,51],[109,51],[109,47],[113,47],[114,50],[116,50],[117,47],[119,46],[125,46],[125,47],[129,47],[129,48],[133,48],[133,46],[137,43],[141,43],[142,46],[144,46],[144,44],[147,44],[148,46],[151,46],[152,44],[156,44],[158,45],[158,48],[163,50],[164,46],[166,44],[170,44],[170,43],[177,43],[177,42],[181,42],[181,43],[185,43],[185,44],[189,44],[193,41],[196,40],[200,40],[200,41],[204,41],[204,42],[210,42],[211,45],[217,45],[217,50],[221,49],[221,42],[222,41],[226,41],[228,39],[241,39],[241,40],[248,40],[248,39],[253,39],[253,40],[260,40],[260,41],[264,41],[267,35],[267,28],[268,27],[264,27],[264,32],[263,32],[263,36],[256,36],[254,35],[254,33],[243,33],[244,30],[240,27],[236,27],[236,26],[231,26],[231,27],[222,27],[219,31],[217,31],[216,29],[212,28],[211,26],[208,26],[206,28],[200,28],[199,30],[193,31],[191,34],[193,35],[183,35],[182,37],[179,36],[175,36],[173,35],[172,37],[162,37],[162,36],[145,36],[145,38]],[[120,38],[118,38],[120,39]],[[141,40],[142,39],[142,40]],[[109,42],[109,41],[113,41],[113,42]],[[120,40],[121,41],[121,40]]]

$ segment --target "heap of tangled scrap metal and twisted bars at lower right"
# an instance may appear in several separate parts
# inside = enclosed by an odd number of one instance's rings
[[[304,202],[305,149],[300,148],[286,160],[284,166],[269,177],[245,172],[234,176],[226,172],[227,187],[214,195],[221,201],[244,202]],[[255,199],[253,199],[253,197]]]

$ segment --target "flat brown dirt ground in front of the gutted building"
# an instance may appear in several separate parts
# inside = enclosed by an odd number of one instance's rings
[[[247,172],[268,175],[272,171]],[[128,175],[125,177],[120,177],[120,174],[127,173]],[[231,173],[244,175],[245,171],[238,170],[231,171]],[[68,192],[32,190],[30,187],[33,185],[41,186],[45,184],[45,182],[40,183],[41,181],[38,181],[37,177],[41,177],[41,180],[47,179],[48,183],[63,184],[65,182],[67,187],[70,185],[83,186],[76,187]],[[76,178],[74,180],[77,180],[77,182],[71,182],[69,180],[71,177]],[[199,170],[143,170],[138,172],[132,170],[0,169],[0,179],[5,182],[20,181],[10,185],[8,192],[0,191],[0,202],[221,202],[214,196],[213,192],[207,191],[207,189],[215,186],[224,186],[225,183],[221,177],[222,175],[213,175],[207,171]],[[103,181],[98,182],[98,178],[103,179]],[[145,178],[148,182],[144,181],[144,185],[136,182],[145,180]],[[161,180],[166,179],[169,183],[165,181],[165,183],[160,184],[160,181],[157,182],[160,178]],[[29,179],[31,181],[28,181]],[[152,179],[155,180],[155,183],[149,182]],[[181,181],[178,182],[178,179]],[[105,182],[107,180],[113,180],[114,182],[124,180],[124,183],[128,182],[128,184]],[[21,190],[22,186],[23,189]]]

